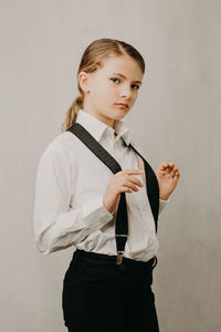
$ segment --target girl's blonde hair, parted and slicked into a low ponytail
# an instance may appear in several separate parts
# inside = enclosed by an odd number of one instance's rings
[[[131,56],[139,65],[143,74],[145,73],[145,61],[133,45],[116,39],[103,38],[93,41],[84,51],[77,71],[77,82],[80,72],[92,73],[102,68],[103,60],[106,58],[119,55]],[[65,113],[62,133],[75,123],[78,110],[84,107],[84,91],[81,89],[80,83],[77,83],[77,89],[81,94],[73,101]]]

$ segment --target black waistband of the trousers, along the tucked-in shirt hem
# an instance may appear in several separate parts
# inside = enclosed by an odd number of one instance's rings
[[[116,266],[116,255],[105,255],[93,251],[86,251],[82,249],[76,249],[73,253],[73,259],[77,259],[77,261],[82,262],[92,262],[95,264],[112,267]],[[127,257],[123,257],[123,264],[134,267],[137,270],[146,270],[148,268],[154,269],[157,264],[157,257],[152,257],[148,261],[138,261]]]

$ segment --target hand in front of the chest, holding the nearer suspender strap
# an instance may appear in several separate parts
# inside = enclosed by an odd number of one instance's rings
[[[143,170],[123,169],[110,176],[103,197],[103,205],[110,214],[117,210],[122,193],[138,191],[136,185],[139,187],[144,186],[138,178],[131,176],[133,174],[143,175]]]

